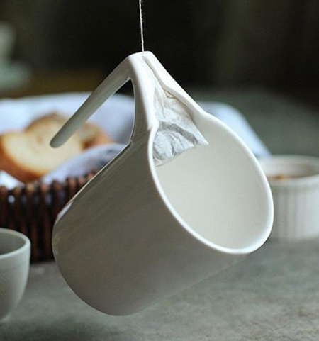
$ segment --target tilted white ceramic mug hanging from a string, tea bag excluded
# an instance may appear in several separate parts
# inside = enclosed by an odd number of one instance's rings
[[[148,52],[128,57],[62,129],[62,135],[72,134],[132,79],[136,118],[130,145],[69,201],[52,238],[69,286],[113,315],[140,311],[230,266],[260,247],[272,227],[271,191],[252,152],[158,63]],[[209,142],[160,167],[152,158],[158,123],[150,69],[196,112],[193,120]]]

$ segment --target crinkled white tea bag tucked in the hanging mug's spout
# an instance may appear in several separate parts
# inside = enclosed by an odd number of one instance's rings
[[[169,92],[155,78],[155,116],[159,128],[153,143],[155,166],[165,164],[181,153],[198,145],[208,145],[192,121],[189,108]]]

